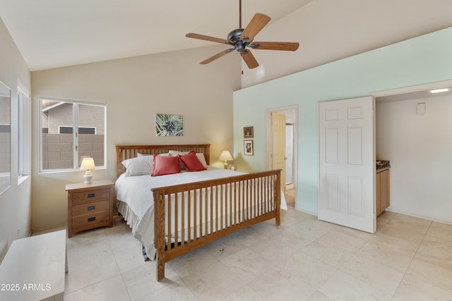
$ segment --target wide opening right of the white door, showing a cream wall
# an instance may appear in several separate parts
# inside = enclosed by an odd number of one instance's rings
[[[376,158],[391,166],[388,211],[451,223],[452,80],[373,95]]]

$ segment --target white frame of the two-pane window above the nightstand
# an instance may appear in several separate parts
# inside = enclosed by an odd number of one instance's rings
[[[50,100],[54,102],[64,102],[64,103],[70,103],[73,105],[72,108],[72,118],[73,118],[73,128],[77,130],[73,130],[73,166],[72,168],[54,168],[54,169],[44,169],[43,168],[43,153],[42,152],[42,101],[43,100]],[[107,104],[105,102],[90,102],[85,100],[78,100],[78,99],[64,99],[64,98],[56,98],[56,97],[40,97],[39,102],[39,145],[40,149],[38,151],[39,154],[39,173],[55,173],[55,172],[64,172],[64,171],[80,171],[80,168],[78,167],[78,105],[88,105],[88,106],[102,106],[104,108],[104,164],[96,165],[95,169],[102,169],[106,168],[106,161],[107,161]]]

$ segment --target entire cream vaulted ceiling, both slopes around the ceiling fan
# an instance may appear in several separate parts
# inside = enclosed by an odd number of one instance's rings
[[[256,40],[300,44],[253,51],[261,66],[242,65],[242,87],[450,27],[451,9],[451,0],[242,0],[242,27],[254,13],[272,18]],[[216,54],[230,47],[185,35],[225,39],[239,27],[239,0],[0,0],[0,17],[33,71],[217,44]]]

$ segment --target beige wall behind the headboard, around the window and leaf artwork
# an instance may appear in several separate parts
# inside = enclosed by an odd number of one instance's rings
[[[80,99],[107,104],[107,169],[93,180],[115,180],[118,144],[210,143],[213,165],[223,149],[232,150],[232,92],[240,88],[241,63],[225,56],[207,66],[203,59],[224,46],[138,56],[32,73],[34,232],[66,226],[66,183],[83,180],[83,171],[38,172],[38,100]],[[155,113],[184,116],[183,137],[157,137]]]

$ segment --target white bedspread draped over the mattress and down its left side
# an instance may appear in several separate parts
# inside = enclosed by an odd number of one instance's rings
[[[126,177],[119,176],[115,184],[117,199],[124,204],[118,204],[118,211],[132,228],[133,236],[140,240],[148,257],[153,260],[154,247],[154,202],[152,188],[169,185],[211,180],[238,176],[243,173],[230,169],[208,166],[206,171],[177,173],[174,175],[151,177],[150,175]],[[281,192],[281,209],[287,210],[287,203]]]

